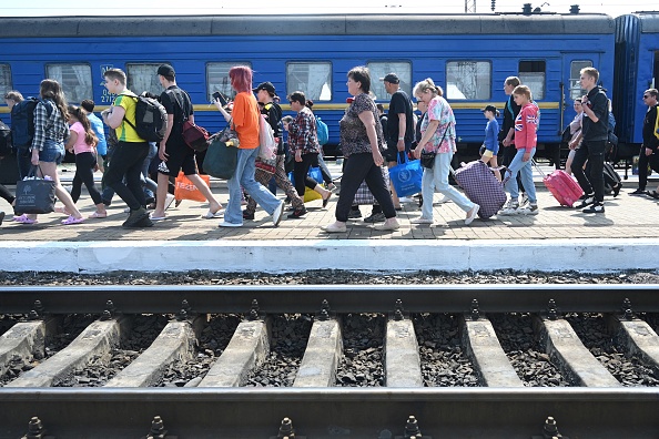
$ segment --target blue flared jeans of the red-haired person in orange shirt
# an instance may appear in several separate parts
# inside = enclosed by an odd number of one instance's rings
[[[265,212],[272,215],[280,205],[277,200],[264,185],[254,180],[256,166],[254,161],[258,155],[258,149],[237,151],[237,164],[233,176],[229,180],[229,203],[224,211],[224,221],[232,224],[243,224],[243,213],[241,211],[242,191],[241,186],[250,194]]]

